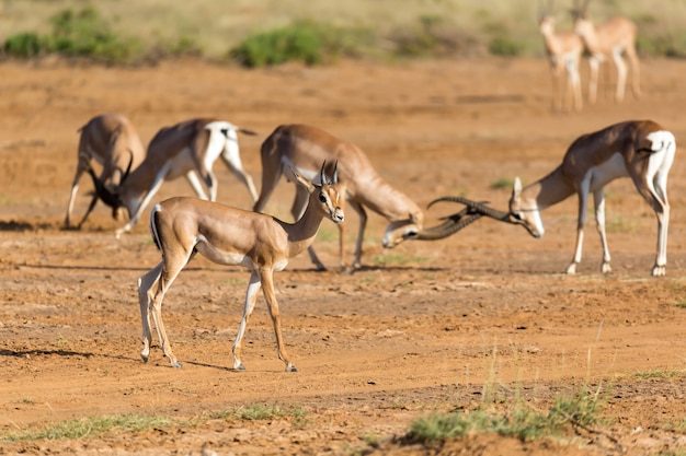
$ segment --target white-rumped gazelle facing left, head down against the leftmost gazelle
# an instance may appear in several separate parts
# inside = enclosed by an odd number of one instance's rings
[[[117,230],[117,237],[122,233],[129,232],[138,222],[140,214],[164,180],[172,180],[183,175],[199,198],[215,201],[217,178],[213,173],[213,166],[219,157],[248,187],[254,201],[258,192],[252,178],[243,169],[241,163],[238,132],[255,135],[228,121],[214,118],[191,119],[158,131],[150,141],[148,153],[140,166],[125,176],[118,187],[111,190],[101,186],[99,189],[105,192],[105,198],[115,200],[116,204],[128,211],[129,220],[124,227]],[[209,195],[205,192],[203,184],[207,187]]]

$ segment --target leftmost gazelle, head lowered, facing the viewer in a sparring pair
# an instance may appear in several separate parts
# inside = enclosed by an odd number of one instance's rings
[[[134,125],[121,114],[102,114],[90,119],[79,128],[79,162],[77,173],[71,184],[71,194],[67,206],[65,227],[71,226],[71,213],[79,191],[79,180],[90,167],[91,160],[103,165],[99,180],[108,187],[117,187],[126,174],[128,166],[138,166],[146,156],[142,142],[134,128]],[[83,225],[98,202],[98,194],[93,195],[85,214],[77,225]],[[118,210],[114,208],[112,215],[118,218]]]

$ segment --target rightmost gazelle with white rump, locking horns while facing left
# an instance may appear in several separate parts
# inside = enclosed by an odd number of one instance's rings
[[[674,135],[652,120],[630,120],[579,137],[568,149],[562,164],[544,178],[522,188],[515,179],[510,212],[501,212],[462,198],[439,198],[468,204],[472,210],[498,220],[524,225],[534,237],[544,235],[540,212],[576,194],[579,218],[576,246],[567,273],[575,273],[581,261],[588,196],[593,195],[595,222],[603,246],[601,270],[610,272],[610,255],[605,235],[604,188],[619,177],[631,177],[638,192],[658,218],[658,255],[653,276],[664,276],[667,264],[670,203],[667,175],[676,141]]]

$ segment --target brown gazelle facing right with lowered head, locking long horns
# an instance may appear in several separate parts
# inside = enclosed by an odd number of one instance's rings
[[[386,229],[382,245],[391,248],[404,239],[433,241],[449,236],[464,227],[467,219],[455,214],[451,219],[431,229],[424,227],[424,213],[420,207],[400,190],[391,187],[374,169],[367,155],[352,142],[342,141],[319,128],[307,125],[282,125],[262,143],[262,189],[254,210],[264,209],[267,199],[276,188],[284,172],[290,168],[310,178],[317,178],[319,163],[336,162],[341,194],[359,215],[359,229],[355,246],[353,268],[359,268],[362,243],[367,224],[365,208],[386,218],[390,223]],[[288,176],[288,174],[287,174]],[[308,194],[301,186],[296,187],[296,197],[290,212],[295,220],[307,207]],[[345,261],[344,224],[339,223],[340,264],[350,271]],[[308,248],[310,259],[322,270],[323,264]]]

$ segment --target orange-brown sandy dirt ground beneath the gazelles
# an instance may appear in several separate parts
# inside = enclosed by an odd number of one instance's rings
[[[197,258],[164,302],[183,369],[156,343],[139,356],[136,280],[157,265],[147,214],[116,239],[100,204],[81,231],[62,222],[77,161],[77,129],[94,115],[128,116],[147,143],[178,121],[218,116],[256,131],[241,136],[260,187],[261,142],[281,124],[319,126],[353,141],[379,174],[422,208],[467,196],[506,208],[521,176],[557,166],[580,135],[650,118],[686,138],[686,62],[644,60],[643,96],[601,101],[581,114],[551,113],[544,60],[340,62],[263,71],[197,61],[108,69],[59,62],[0,65],[0,453],[2,454],[464,454],[659,455],[686,451],[686,166],[671,173],[668,265],[652,278],[656,221],[628,180],[607,189],[613,272],[599,271],[590,214],[584,259],[561,273],[575,238],[576,200],[544,212],[535,239],[518,226],[480,220],[438,242],[381,247],[386,221],[370,214],[363,267],[338,268],[338,229],[324,221],[307,255],[275,276],[286,347],[284,372],[260,299],[245,336],[247,370],[231,344],[249,273]],[[222,202],[251,199],[221,163]],[[77,217],[89,201],[83,179]],[[184,179],[156,200],[192,195]],[[266,211],[289,220],[282,182]],[[455,211],[426,211],[427,225]],[[348,259],[357,215],[346,213]],[[588,388],[604,420],[559,439],[521,442],[473,435],[424,447],[404,439],[432,412],[495,409],[516,401],[545,413],[556,398]],[[236,419],[254,406],[290,411]],[[84,417],[150,416],[170,426],[73,440],[11,441],[12,434]],[[673,453],[667,453],[673,452]],[[681,453],[678,453],[681,454]]]

